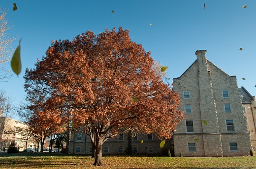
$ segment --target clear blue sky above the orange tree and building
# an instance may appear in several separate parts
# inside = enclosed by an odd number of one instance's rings
[[[0,8],[8,10],[9,35],[18,37],[13,48],[22,38],[22,72],[0,83],[14,105],[26,95],[25,69],[34,68],[52,40],[119,26],[169,67],[170,82],[196,60],[196,50],[205,49],[208,60],[256,95],[256,0],[1,0]],[[6,68],[11,69],[10,63]]]

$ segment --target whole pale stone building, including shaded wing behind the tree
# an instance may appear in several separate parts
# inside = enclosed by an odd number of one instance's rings
[[[179,109],[185,114],[173,139],[160,148],[161,141],[154,134],[138,134],[131,139],[134,153],[162,154],[170,148],[175,156],[180,151],[183,156],[193,157],[240,156],[256,147],[255,97],[243,87],[239,91],[236,76],[207,60],[206,50],[197,50],[195,54],[197,59],[192,65],[173,79],[173,90],[180,94]],[[110,138],[103,144],[102,154],[124,153],[127,138]],[[91,154],[91,147],[90,137],[71,134],[69,153]]]

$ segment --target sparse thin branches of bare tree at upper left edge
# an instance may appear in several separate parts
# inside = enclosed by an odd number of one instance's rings
[[[10,61],[10,56],[13,52],[11,43],[16,39],[16,37],[9,37],[6,33],[11,27],[7,24],[8,20],[4,18],[6,13],[6,11],[0,9],[0,82],[8,81],[12,75],[3,64]]]

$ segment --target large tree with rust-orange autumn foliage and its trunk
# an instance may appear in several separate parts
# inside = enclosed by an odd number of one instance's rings
[[[84,126],[93,135],[96,166],[102,165],[101,148],[108,138],[131,130],[168,139],[183,119],[178,94],[153,69],[150,52],[128,33],[120,27],[52,42],[24,76],[28,101],[54,108],[63,123]]]

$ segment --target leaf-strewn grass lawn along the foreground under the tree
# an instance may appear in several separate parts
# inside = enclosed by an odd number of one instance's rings
[[[103,156],[104,166],[92,166],[89,156],[59,153],[0,154],[0,169],[256,169],[256,157]]]

